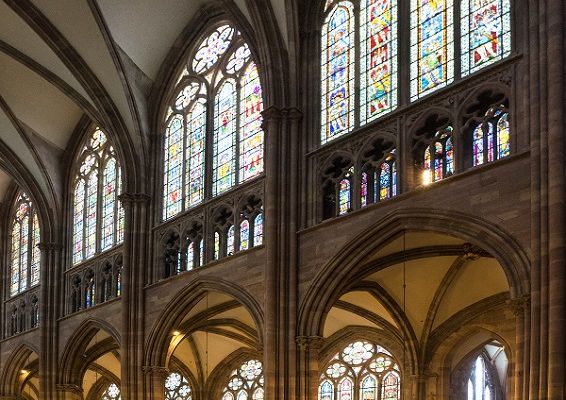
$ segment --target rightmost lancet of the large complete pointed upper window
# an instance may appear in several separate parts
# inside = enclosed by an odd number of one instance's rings
[[[240,94],[240,182],[263,172],[263,111],[259,74],[254,62],[241,79]]]

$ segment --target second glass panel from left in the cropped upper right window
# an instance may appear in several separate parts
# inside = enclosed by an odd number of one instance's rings
[[[397,1],[362,0],[360,122],[397,106]]]

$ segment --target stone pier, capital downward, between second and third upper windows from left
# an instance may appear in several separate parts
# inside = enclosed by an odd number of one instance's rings
[[[123,399],[141,400],[144,349],[144,276],[150,245],[148,206],[150,197],[124,193],[120,201],[125,211],[124,265],[122,272],[122,337],[120,343],[121,388]]]

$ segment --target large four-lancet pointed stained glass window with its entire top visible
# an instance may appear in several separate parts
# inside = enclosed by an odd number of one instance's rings
[[[232,32],[229,35],[230,43],[220,53],[220,56],[212,64],[207,65],[207,53],[205,44],[212,43],[211,38],[217,32],[220,32],[215,37],[218,37],[225,29]],[[221,44],[222,45],[222,44]],[[219,45],[221,47],[221,45]],[[240,62],[234,55],[244,57],[245,61]],[[200,57],[200,58],[197,58]],[[210,54],[208,54],[210,56]],[[199,69],[200,65],[204,63],[204,69]],[[265,91],[261,83],[261,69],[262,66],[258,64],[258,58],[251,47],[251,41],[245,33],[238,29],[236,24],[228,20],[222,20],[211,24],[198,35],[198,38],[186,51],[179,62],[180,66],[177,68],[176,81],[170,82],[168,85],[168,99],[162,106],[162,124],[160,125],[160,182],[159,201],[158,204],[158,221],[167,222],[175,217],[184,214],[189,210],[202,207],[211,199],[216,199],[224,196],[226,193],[231,192],[237,187],[248,182],[255,181],[264,176],[265,172],[265,132],[261,128],[262,116],[261,112],[265,104]],[[252,67],[255,66],[255,67]],[[248,75],[249,69],[254,70],[252,75]],[[198,72],[197,72],[198,71]],[[231,71],[228,73],[227,71]],[[246,81],[246,77],[253,76],[253,79]],[[217,169],[215,165],[219,159],[216,152],[216,145],[218,144],[217,134],[220,134],[220,127],[217,125],[222,113],[219,111],[219,95],[221,90],[225,88],[227,82],[234,82],[234,96],[232,118],[229,123],[233,122],[233,131],[230,133],[232,144],[228,146],[229,152],[232,152],[230,163],[230,184],[227,187],[220,187],[220,179],[216,179]],[[248,82],[249,85],[246,85]],[[251,82],[251,83],[250,83]],[[257,85],[255,85],[257,84]],[[194,93],[191,92],[189,86],[199,85]],[[255,85],[255,86],[254,86]],[[189,89],[187,89],[189,88]],[[259,95],[257,89],[259,88]],[[187,89],[187,90],[185,90]],[[186,91],[186,93],[184,93]],[[247,93],[247,96],[245,94]],[[252,103],[246,103],[247,100],[253,98]],[[246,100],[247,99],[247,100]],[[250,100],[251,101],[251,100]],[[201,164],[199,168],[201,171],[200,181],[198,181],[200,196],[194,202],[189,202],[189,178],[190,169],[187,163],[190,160],[190,155],[187,151],[190,146],[187,142],[195,130],[189,133],[187,125],[187,118],[190,116],[193,107],[196,103],[202,102],[204,105],[205,120],[201,121],[200,125],[201,134],[204,136],[201,145]],[[183,104],[185,106],[183,107]],[[250,106],[250,105],[253,105]],[[250,109],[249,119],[247,110]],[[175,161],[175,165],[180,166],[180,173],[173,177],[170,173],[171,168],[168,169],[167,163],[172,159],[169,154],[168,146],[168,130],[171,121],[175,118],[180,118],[181,123],[181,137],[180,137],[180,156],[179,160]],[[246,130],[250,127],[250,130]],[[251,132],[246,134],[246,132]],[[254,142],[254,139],[258,142]],[[246,146],[250,146],[247,148]],[[202,148],[204,147],[204,148]],[[189,150],[187,150],[189,149]],[[251,149],[251,150],[250,150]],[[254,153],[256,151],[256,153]],[[253,154],[252,154],[253,153]],[[177,154],[177,153],[174,153]],[[223,152],[220,153],[222,155]],[[253,160],[250,163],[244,161],[246,154]],[[256,158],[254,158],[255,156]],[[218,161],[220,162],[220,161]],[[254,162],[257,162],[254,164]],[[222,166],[225,164],[219,164]],[[255,168],[255,169],[254,169]],[[179,180],[178,185],[174,186],[176,180]],[[223,182],[223,181],[222,181]],[[216,184],[220,186],[215,186]],[[170,185],[171,184],[171,185]],[[171,189],[172,188],[172,189]],[[176,188],[176,189],[175,189]],[[215,190],[218,189],[218,190]],[[175,201],[170,202],[168,199],[173,193],[175,194]],[[174,206],[168,206],[173,204]],[[177,205],[175,205],[177,204]]]

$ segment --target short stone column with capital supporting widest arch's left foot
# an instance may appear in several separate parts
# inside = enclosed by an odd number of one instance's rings
[[[320,336],[297,336],[298,350],[298,400],[316,400],[318,398],[318,379],[320,365],[318,357],[323,338]]]

